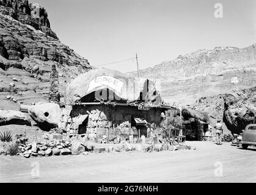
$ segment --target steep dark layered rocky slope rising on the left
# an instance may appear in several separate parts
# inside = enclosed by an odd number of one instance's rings
[[[59,41],[43,7],[27,0],[0,0],[0,109],[47,101],[52,65],[59,72],[61,96],[66,82],[92,69]]]

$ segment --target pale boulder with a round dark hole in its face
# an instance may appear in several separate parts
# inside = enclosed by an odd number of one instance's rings
[[[49,131],[60,125],[61,110],[58,104],[42,102],[29,107],[28,111],[42,130]]]

